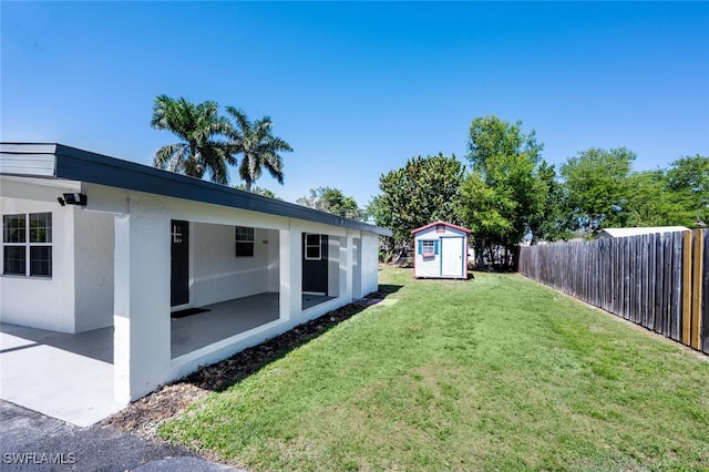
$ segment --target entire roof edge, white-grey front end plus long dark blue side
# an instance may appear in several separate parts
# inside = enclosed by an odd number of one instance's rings
[[[380,236],[392,234],[387,228],[367,223],[62,144],[0,143],[0,175],[79,181],[260,212]]]

